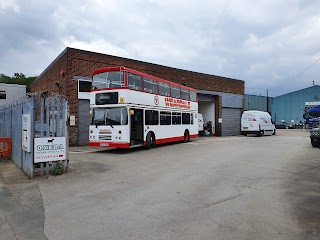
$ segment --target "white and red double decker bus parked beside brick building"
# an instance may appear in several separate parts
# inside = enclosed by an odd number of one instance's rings
[[[89,146],[150,149],[198,136],[195,89],[126,67],[92,75]]]

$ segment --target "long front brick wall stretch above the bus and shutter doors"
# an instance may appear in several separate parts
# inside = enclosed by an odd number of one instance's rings
[[[125,66],[172,82],[208,91],[244,94],[244,81],[209,74],[191,72],[152,63],[110,55],[68,49],[73,75],[90,77],[93,70],[110,66]]]

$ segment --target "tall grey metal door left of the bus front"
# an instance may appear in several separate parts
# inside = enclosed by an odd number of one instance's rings
[[[91,123],[90,101],[87,99],[78,100],[78,136],[79,145],[87,145],[89,141],[89,125]]]

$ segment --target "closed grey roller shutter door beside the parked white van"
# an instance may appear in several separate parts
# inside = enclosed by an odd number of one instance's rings
[[[241,109],[222,108],[222,136],[240,135]]]

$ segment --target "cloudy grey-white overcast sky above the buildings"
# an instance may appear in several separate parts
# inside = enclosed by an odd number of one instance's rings
[[[0,73],[37,76],[66,47],[276,96],[320,85],[320,1],[0,0]]]

